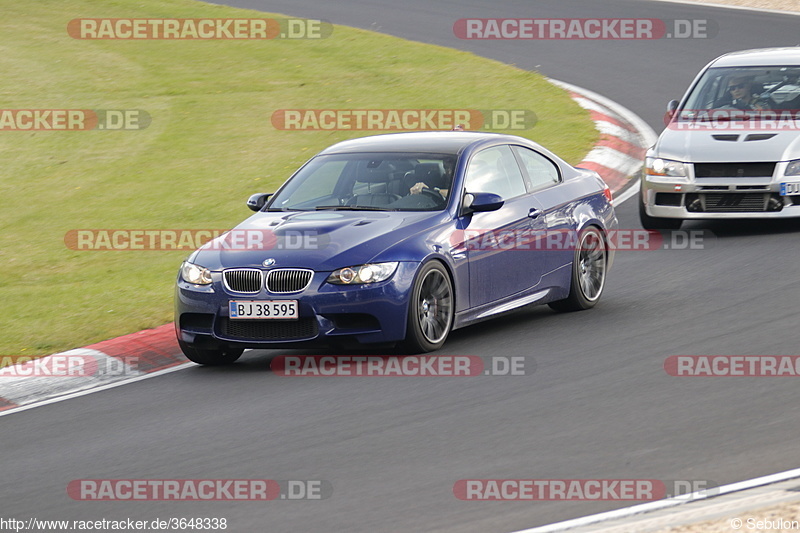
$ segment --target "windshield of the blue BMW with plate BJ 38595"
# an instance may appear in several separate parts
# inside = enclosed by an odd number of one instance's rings
[[[272,198],[268,210],[442,210],[455,162],[451,154],[317,156]]]

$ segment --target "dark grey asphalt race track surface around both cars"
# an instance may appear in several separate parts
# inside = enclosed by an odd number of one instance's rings
[[[794,17],[641,1],[234,1],[460,47],[574,83],[659,130],[720,53],[792,45]],[[462,41],[465,17],[715,20],[705,41]],[[435,83],[435,80],[431,80]],[[464,73],[469,83],[469,73]],[[457,87],[454,87],[457,90]],[[535,95],[532,95],[535,99]],[[535,100],[534,100],[535,101]],[[618,209],[638,228],[635,202]],[[288,378],[281,352],[190,367],[0,420],[0,516],[225,517],[228,531],[504,532],[630,502],[469,502],[459,479],[731,483],[798,466],[792,378],[676,378],[670,355],[796,355],[800,223],[693,223],[702,250],[618,254],[594,310],[530,308],[454,332],[442,354],[526,358],[525,376]],[[306,352],[300,352],[306,353]],[[80,502],[74,479],[320,479],[321,501]]]

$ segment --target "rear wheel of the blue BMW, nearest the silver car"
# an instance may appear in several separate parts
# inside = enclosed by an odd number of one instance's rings
[[[606,284],[608,247],[603,233],[590,226],[581,231],[572,261],[569,296],[550,302],[551,309],[559,312],[582,311],[594,307]]]

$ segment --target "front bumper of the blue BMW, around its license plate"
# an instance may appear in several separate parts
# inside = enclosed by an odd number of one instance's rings
[[[408,301],[419,263],[400,262],[383,282],[362,285],[327,283],[330,272],[315,272],[305,290],[292,294],[258,294],[228,290],[221,272],[197,286],[178,279],[175,330],[180,341],[197,347],[301,348],[397,342],[405,338]],[[297,300],[298,319],[229,317],[230,300]]]

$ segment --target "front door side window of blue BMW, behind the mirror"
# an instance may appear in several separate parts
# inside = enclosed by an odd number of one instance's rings
[[[525,180],[511,147],[504,144],[481,150],[467,167],[467,192],[491,192],[503,199],[525,194]]]

